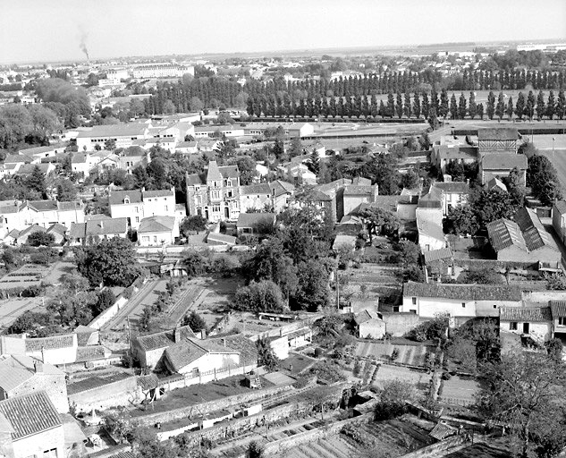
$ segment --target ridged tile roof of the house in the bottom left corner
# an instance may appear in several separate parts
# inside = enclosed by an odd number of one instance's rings
[[[62,426],[59,414],[45,391],[0,401],[0,415],[12,426],[13,440]]]

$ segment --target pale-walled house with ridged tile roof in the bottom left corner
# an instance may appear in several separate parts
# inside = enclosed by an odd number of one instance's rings
[[[63,423],[45,391],[0,401],[0,424],[4,456],[65,456]]]

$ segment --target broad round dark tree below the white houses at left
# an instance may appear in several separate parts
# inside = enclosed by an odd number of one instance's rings
[[[120,237],[80,248],[76,251],[75,259],[80,274],[93,287],[99,284],[129,286],[139,275],[133,245]]]

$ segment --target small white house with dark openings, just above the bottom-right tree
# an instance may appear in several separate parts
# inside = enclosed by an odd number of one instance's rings
[[[499,327],[528,336],[537,344],[545,344],[553,338],[551,307],[502,307],[499,310]]]

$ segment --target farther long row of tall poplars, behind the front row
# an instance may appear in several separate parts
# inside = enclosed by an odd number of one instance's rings
[[[433,69],[423,72],[376,72],[335,79],[305,79],[287,81],[277,76],[271,81],[248,79],[242,85],[235,78],[185,75],[176,83],[167,82],[156,88],[155,95],[144,101],[146,114],[199,111],[202,107],[246,106],[247,98],[289,98],[295,104],[300,99],[356,98],[378,94],[427,92],[440,90],[503,90],[562,89],[566,73],[543,70],[468,70],[459,78],[448,78]],[[452,82],[451,82],[452,81]]]

